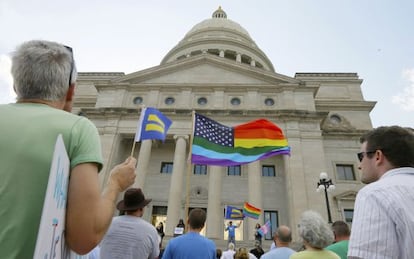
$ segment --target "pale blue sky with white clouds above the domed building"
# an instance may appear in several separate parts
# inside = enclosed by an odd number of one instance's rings
[[[412,0],[0,0],[0,103],[14,102],[10,54],[24,41],[74,50],[79,72],[157,66],[221,6],[279,74],[357,73],[373,127],[414,127]]]

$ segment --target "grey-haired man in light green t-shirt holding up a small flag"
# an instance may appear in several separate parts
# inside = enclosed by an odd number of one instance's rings
[[[65,240],[86,254],[107,231],[119,193],[134,183],[136,159],[112,169],[101,195],[98,131],[70,113],[77,77],[70,47],[25,42],[12,55],[11,72],[17,101],[0,105],[0,257],[33,258],[59,134],[70,160]]]

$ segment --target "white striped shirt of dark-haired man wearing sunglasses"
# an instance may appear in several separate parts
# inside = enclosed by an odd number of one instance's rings
[[[414,168],[388,171],[355,201],[348,258],[414,257]]]

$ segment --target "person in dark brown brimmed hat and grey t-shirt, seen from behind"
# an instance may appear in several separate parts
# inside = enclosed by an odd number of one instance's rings
[[[130,188],[117,209],[125,215],[114,217],[102,240],[101,259],[110,258],[157,258],[159,236],[149,222],[142,219],[144,208],[152,199],[145,199],[140,188]]]

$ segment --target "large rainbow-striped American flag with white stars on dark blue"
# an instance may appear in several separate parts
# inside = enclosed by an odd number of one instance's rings
[[[228,127],[196,113],[193,132],[193,164],[231,166],[290,155],[282,130],[265,119]]]

